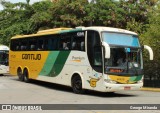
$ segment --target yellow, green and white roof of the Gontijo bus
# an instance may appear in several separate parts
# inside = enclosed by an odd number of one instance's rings
[[[126,34],[137,35],[137,33],[135,33],[135,32],[124,30],[124,29],[119,29],[119,28],[101,27],[101,26],[91,26],[91,27],[81,26],[81,27],[76,27],[76,28],[54,28],[54,29],[41,30],[35,34],[16,35],[16,36],[12,37],[11,39],[25,38],[25,37],[36,37],[36,36],[43,36],[43,35],[50,35],[50,34],[61,34],[61,33],[82,31],[82,30],[96,30],[98,32],[107,31],[107,32],[126,33]]]

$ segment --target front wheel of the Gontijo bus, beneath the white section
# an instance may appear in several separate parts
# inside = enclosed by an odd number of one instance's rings
[[[72,89],[76,94],[83,94],[84,89],[82,89],[82,80],[79,75],[76,75],[72,78]]]

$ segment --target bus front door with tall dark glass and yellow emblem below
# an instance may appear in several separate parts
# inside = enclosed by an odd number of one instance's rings
[[[91,66],[92,74],[89,76],[89,83],[92,89],[99,89],[102,82],[102,47],[99,33],[87,31],[87,55]],[[101,81],[101,82],[100,82]]]

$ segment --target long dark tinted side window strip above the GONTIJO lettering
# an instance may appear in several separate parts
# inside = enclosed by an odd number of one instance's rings
[[[12,39],[13,51],[85,51],[85,32],[70,32],[56,35]]]

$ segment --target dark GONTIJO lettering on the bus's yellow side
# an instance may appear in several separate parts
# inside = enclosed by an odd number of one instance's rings
[[[41,60],[41,54],[22,54],[24,60]]]

